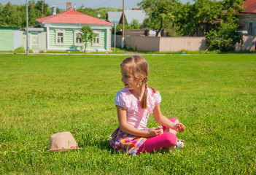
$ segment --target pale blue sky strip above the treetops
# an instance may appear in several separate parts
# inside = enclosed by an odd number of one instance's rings
[[[0,0],[0,3],[7,4],[8,1],[11,4],[26,4],[26,0]],[[137,3],[140,1],[141,0],[125,0],[125,9],[138,8]],[[182,3],[186,3],[187,1],[192,2],[192,0],[181,0]],[[123,9],[123,0],[44,0],[44,2],[47,3],[49,7],[53,7],[53,5],[55,5],[59,9],[66,9],[66,2],[71,2],[72,6],[74,6],[75,4],[77,8],[81,7],[82,4],[84,4],[85,7],[93,9],[97,9],[99,7],[112,7],[115,9]]]

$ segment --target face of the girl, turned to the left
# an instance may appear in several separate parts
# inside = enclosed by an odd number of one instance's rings
[[[125,70],[125,66],[121,66],[122,79],[121,81],[125,85],[125,89],[134,90],[140,88],[141,81],[136,79],[132,74],[128,74],[128,71]]]

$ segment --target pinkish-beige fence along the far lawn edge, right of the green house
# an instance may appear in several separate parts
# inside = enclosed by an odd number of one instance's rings
[[[116,36],[116,47],[121,47],[122,36]],[[112,47],[114,47],[112,35]],[[244,36],[242,50],[255,50],[256,36]],[[205,37],[155,37],[155,36],[125,36],[125,47],[139,51],[149,52],[175,52],[179,50],[206,50]],[[241,44],[236,45],[236,50],[241,50]]]

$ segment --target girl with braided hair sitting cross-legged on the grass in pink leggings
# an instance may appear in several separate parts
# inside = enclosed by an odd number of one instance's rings
[[[185,131],[185,125],[177,118],[168,119],[161,113],[160,93],[147,86],[147,61],[133,56],[123,60],[120,66],[125,88],[115,96],[120,127],[112,133],[110,145],[116,151],[131,155],[183,147],[184,141],[177,141],[176,133]],[[158,128],[147,128],[147,120],[152,113],[161,125]]]

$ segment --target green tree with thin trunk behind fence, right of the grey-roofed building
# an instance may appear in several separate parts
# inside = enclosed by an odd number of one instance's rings
[[[174,21],[173,13],[177,4],[176,0],[143,0],[139,2],[139,7],[148,15],[148,18],[144,20],[144,26],[158,28],[156,33],[158,36],[162,28]]]

